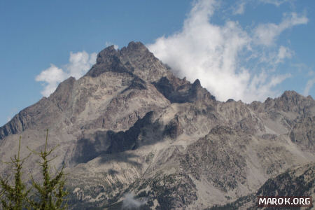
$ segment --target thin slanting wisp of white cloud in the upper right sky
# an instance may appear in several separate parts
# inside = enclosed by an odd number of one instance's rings
[[[255,43],[261,45],[272,45],[276,37],[281,34],[285,29],[290,29],[295,25],[307,24],[308,19],[304,15],[297,15],[297,13],[290,13],[283,18],[279,25],[274,23],[267,23],[258,25],[255,28],[254,36]]]

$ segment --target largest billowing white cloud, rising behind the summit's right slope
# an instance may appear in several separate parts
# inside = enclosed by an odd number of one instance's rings
[[[228,20],[225,25],[211,23],[216,10],[214,0],[195,1],[183,29],[171,36],[162,36],[148,45],[149,50],[162,62],[169,64],[177,76],[186,76],[193,82],[199,78],[202,85],[217,99],[241,99],[244,102],[265,100],[279,94],[274,87],[290,74],[272,73],[276,59],[262,60],[262,55],[275,55],[279,62],[292,56],[288,48],[264,50],[255,44],[255,34]],[[291,14],[281,22],[277,34],[307,18]],[[261,25],[262,29],[265,25]],[[263,38],[263,37],[262,37]],[[272,36],[271,40],[273,40]],[[270,40],[270,38],[269,38]],[[279,63],[278,62],[278,63]],[[262,65],[259,68],[255,65]],[[252,65],[251,65],[252,64]]]

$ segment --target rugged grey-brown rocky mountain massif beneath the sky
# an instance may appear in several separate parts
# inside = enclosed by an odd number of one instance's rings
[[[19,135],[22,155],[41,149],[49,128],[49,144],[59,144],[52,164],[69,172],[71,209],[121,209],[128,193],[140,209],[246,209],[255,193],[311,192],[277,183],[314,165],[314,99],[286,91],[263,103],[218,102],[171,70],[139,42],[102,50],[85,76],[0,127],[1,160],[15,154]],[[25,170],[36,177],[35,162]]]

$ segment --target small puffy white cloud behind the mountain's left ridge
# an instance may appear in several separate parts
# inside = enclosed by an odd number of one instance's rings
[[[43,82],[44,89],[41,91],[41,94],[48,97],[56,90],[59,83],[70,76],[76,79],[80,78],[96,62],[96,58],[97,54],[95,52],[90,55],[85,51],[70,52],[69,64],[64,66],[65,70],[58,68],[54,64],[50,64],[48,69],[41,71],[35,78],[36,81]]]

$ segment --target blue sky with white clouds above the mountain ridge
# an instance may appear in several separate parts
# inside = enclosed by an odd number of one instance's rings
[[[224,101],[315,97],[315,1],[0,0],[0,126],[82,76],[106,45],[141,41]]]

